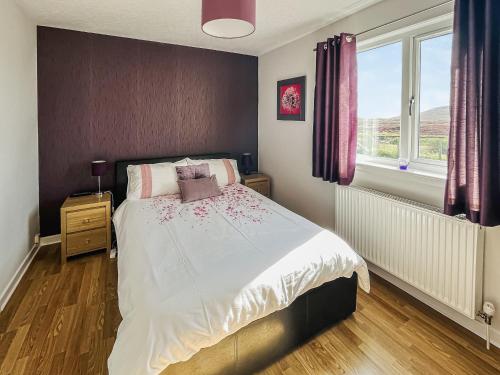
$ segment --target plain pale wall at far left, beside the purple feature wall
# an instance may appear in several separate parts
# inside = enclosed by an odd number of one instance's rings
[[[36,26],[0,0],[0,294],[38,233],[37,134]]]

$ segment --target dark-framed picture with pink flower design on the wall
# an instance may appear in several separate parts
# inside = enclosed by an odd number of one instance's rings
[[[278,120],[305,121],[306,76],[278,81],[276,96]]]

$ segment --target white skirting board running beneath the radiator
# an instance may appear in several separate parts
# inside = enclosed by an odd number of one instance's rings
[[[459,312],[453,310],[452,308],[442,304],[439,301],[436,301],[434,298],[428,296],[427,294],[418,290],[417,288],[405,283],[401,279],[383,270],[382,268],[374,265],[373,263],[367,262],[367,264],[368,264],[368,269],[377,276],[380,276],[381,278],[388,281],[392,285],[398,287],[399,289],[404,290],[406,293],[418,299],[420,302],[425,303],[427,306],[438,311],[442,315],[446,316],[448,319],[454,321],[455,323],[461,325],[462,327],[468,329],[472,333],[486,340],[486,327],[484,323],[467,318],[466,316],[460,314]],[[491,326],[490,326],[490,342],[492,345],[495,345],[497,348],[500,348],[500,331],[494,329]]]

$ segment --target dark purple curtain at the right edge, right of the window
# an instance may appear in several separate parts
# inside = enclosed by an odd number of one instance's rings
[[[500,0],[456,0],[445,212],[500,224]]]

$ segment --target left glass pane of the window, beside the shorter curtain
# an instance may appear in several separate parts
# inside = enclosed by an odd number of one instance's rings
[[[402,44],[358,53],[358,154],[397,159]]]

